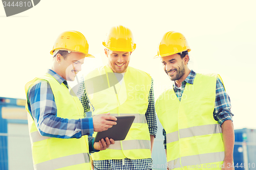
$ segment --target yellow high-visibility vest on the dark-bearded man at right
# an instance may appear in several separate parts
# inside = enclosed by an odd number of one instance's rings
[[[181,101],[173,86],[156,101],[166,131],[169,169],[221,169],[224,160],[222,129],[214,119],[217,75],[197,74],[187,83]]]

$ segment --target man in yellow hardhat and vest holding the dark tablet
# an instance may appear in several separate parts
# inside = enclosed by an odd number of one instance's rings
[[[83,118],[83,107],[68,86],[81,70],[88,54],[87,39],[78,31],[61,33],[50,52],[52,68],[25,86],[26,109],[35,169],[90,169],[89,151],[104,150],[114,143],[94,142],[89,134],[111,128],[116,117]]]

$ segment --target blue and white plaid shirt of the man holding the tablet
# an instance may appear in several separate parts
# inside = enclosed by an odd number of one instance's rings
[[[48,74],[53,76],[59,84],[63,83],[69,88],[65,79],[49,69]],[[93,120],[90,118],[66,119],[57,117],[57,107],[50,84],[46,80],[38,79],[28,89],[28,109],[32,115],[38,132],[42,136],[56,138],[80,138],[93,133]],[[94,152],[94,138],[89,139],[89,149]]]

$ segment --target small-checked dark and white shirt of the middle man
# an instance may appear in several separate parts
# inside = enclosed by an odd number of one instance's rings
[[[84,91],[84,79],[81,79],[78,95],[80,94],[80,101],[83,105],[84,112],[90,111],[90,100],[87,96],[87,93]],[[93,106],[92,106],[93,107]],[[94,108],[92,108],[94,109]],[[145,113],[146,122],[148,125],[148,130],[150,135],[154,135],[156,137],[157,133],[157,120],[156,120],[156,111],[155,111],[155,98],[153,91],[153,79],[151,83],[150,94],[148,95],[148,107]],[[94,160],[93,164],[98,169],[126,169],[126,170],[134,170],[134,169],[151,169],[152,159],[113,159],[113,160]]]

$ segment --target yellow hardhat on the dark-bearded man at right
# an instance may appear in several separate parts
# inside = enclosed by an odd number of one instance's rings
[[[165,57],[184,51],[191,51],[184,35],[175,31],[169,31],[163,35],[158,45],[157,55],[154,58]]]

